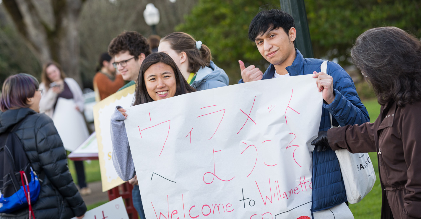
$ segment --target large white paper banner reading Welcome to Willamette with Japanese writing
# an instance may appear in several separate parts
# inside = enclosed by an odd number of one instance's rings
[[[125,127],[146,217],[311,218],[310,142],[321,111],[312,75],[128,108]]]

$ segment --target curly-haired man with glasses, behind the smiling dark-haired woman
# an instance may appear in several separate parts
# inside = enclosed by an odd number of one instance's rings
[[[151,50],[146,37],[135,31],[127,31],[111,40],[108,54],[114,58],[112,65],[123,79],[130,81],[119,89],[123,90],[136,83],[140,66]]]

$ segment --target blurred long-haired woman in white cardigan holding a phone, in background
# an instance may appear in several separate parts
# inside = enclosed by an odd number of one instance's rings
[[[72,99],[75,102],[76,110],[81,113],[83,112],[84,99],[82,90],[75,79],[65,76],[59,63],[54,61],[45,63],[43,65],[41,79],[42,83],[40,84],[40,89],[45,90],[45,94],[40,100],[41,112],[45,112],[45,114],[53,118],[57,100],[59,98]],[[79,125],[80,127],[86,126],[85,123]],[[83,166],[83,161],[75,161],[75,169],[80,193],[82,195],[90,195],[91,189],[88,188],[85,181],[85,168]]]

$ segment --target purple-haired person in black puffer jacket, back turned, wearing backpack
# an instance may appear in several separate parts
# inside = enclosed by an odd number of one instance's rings
[[[15,133],[40,177],[40,195],[32,203],[35,218],[81,219],[86,206],[70,175],[63,142],[50,117],[39,113],[42,92],[37,79],[29,74],[8,77],[0,98],[0,133],[24,120]],[[0,219],[17,218],[28,218],[28,208],[0,213]]]

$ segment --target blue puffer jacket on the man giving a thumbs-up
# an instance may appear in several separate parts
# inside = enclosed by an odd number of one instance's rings
[[[316,58],[303,58],[296,50],[296,58],[286,70],[290,76],[313,74],[320,72],[323,60]],[[271,79],[275,74],[275,67],[271,64],[263,74],[263,79]],[[328,62],[328,75],[333,77],[333,92],[335,100],[331,104],[323,103],[322,118],[319,131],[330,128],[330,116],[334,126],[363,124],[370,121],[367,109],[361,103],[355,90],[354,82],[341,66]],[[242,79],[238,83],[242,83]],[[328,149],[317,153],[313,151],[313,190],[311,211],[325,210],[346,201],[344,180],[339,168],[338,158],[333,150]]]

